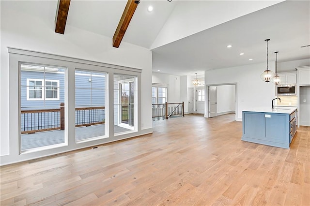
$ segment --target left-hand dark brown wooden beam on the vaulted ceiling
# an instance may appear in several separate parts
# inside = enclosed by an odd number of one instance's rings
[[[68,12],[69,12],[70,0],[58,1],[58,12],[56,16],[55,32],[64,34],[66,27]]]

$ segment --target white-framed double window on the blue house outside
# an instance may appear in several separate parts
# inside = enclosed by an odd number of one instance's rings
[[[59,80],[27,79],[27,100],[59,100]]]

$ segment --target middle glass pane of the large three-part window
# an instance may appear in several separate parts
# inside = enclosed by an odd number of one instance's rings
[[[106,73],[76,70],[76,142],[106,138]]]

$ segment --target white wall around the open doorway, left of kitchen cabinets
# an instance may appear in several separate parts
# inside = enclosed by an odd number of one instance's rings
[[[274,71],[274,62],[270,63]],[[237,83],[236,120],[242,120],[242,111],[252,107],[271,107],[275,98],[273,82],[263,82],[260,78],[265,70],[265,62],[238,67],[205,71],[205,85]],[[205,117],[208,113],[206,108]]]

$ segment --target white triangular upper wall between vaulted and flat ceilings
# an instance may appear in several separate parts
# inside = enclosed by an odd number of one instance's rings
[[[151,49],[169,44],[281,1],[283,0],[198,0],[193,3],[191,0],[179,0],[169,19],[157,35]],[[218,15],[219,11],[220,15]],[[197,21],[197,17],[207,20]]]

